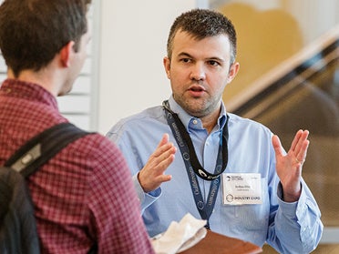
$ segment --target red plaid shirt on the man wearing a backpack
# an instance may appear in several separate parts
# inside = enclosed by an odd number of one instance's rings
[[[47,127],[66,122],[43,87],[7,79],[0,88],[0,165]],[[28,179],[44,253],[153,253],[126,161],[108,139],[87,135]]]

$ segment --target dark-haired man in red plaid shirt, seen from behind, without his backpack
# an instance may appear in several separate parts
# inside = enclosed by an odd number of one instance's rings
[[[56,97],[72,88],[90,39],[90,0],[5,0],[0,48],[0,163],[26,140],[67,122]],[[27,180],[42,253],[154,253],[126,160],[107,137],[90,134]]]

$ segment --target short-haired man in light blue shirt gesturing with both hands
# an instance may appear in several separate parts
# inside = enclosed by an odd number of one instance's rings
[[[308,253],[323,232],[302,178],[309,133],[299,130],[286,153],[267,127],[226,111],[222,93],[238,73],[235,57],[224,15],[180,15],[163,60],[172,95],[120,120],[108,137],[127,158],[151,237],[190,212],[223,235]]]

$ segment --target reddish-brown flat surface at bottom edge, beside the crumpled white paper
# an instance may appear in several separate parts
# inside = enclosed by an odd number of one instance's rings
[[[206,237],[180,254],[256,254],[262,248],[241,239],[233,239],[208,231]]]

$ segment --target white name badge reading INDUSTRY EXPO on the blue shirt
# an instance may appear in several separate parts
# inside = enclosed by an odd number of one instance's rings
[[[262,204],[261,174],[222,174],[222,201],[224,205]]]

